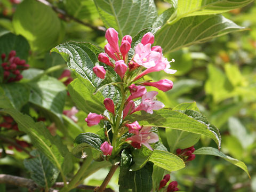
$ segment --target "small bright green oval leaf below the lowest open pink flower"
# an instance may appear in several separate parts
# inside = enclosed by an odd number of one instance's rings
[[[154,150],[149,161],[170,172],[177,171],[185,167],[185,163],[180,157],[162,150]]]

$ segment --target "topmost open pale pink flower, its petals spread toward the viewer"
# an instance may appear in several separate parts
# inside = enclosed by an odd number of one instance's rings
[[[143,45],[139,43],[135,47],[135,55],[133,60],[138,63],[138,65],[145,68],[154,67],[159,61],[161,61],[162,54],[157,51],[151,51],[151,44]]]

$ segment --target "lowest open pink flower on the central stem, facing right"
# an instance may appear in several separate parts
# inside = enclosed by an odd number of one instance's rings
[[[142,127],[139,131],[139,134],[135,134],[130,138],[127,138],[126,141],[133,141],[135,143],[139,143],[139,146],[141,145],[146,146],[148,149],[153,150],[149,143],[155,143],[157,142],[158,135],[156,133],[150,132],[151,127]]]

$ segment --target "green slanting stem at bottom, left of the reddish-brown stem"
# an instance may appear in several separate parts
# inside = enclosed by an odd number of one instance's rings
[[[85,174],[85,172],[86,172],[87,168],[89,167],[89,165],[91,164],[91,162],[92,162],[92,155],[89,155],[89,156],[87,156],[87,158],[83,162],[83,165],[77,171],[77,173],[75,174],[73,179],[68,183],[68,185],[66,187],[63,187],[59,192],[68,192],[71,189],[76,188],[76,186],[78,185],[78,182]]]

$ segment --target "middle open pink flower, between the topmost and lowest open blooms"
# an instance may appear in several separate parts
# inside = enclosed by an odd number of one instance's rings
[[[153,110],[162,109],[164,107],[164,104],[160,101],[155,100],[157,94],[157,91],[150,91],[146,94],[143,94],[140,105],[136,109],[134,109],[132,113],[139,110],[145,110],[147,111],[147,113],[153,114]]]

